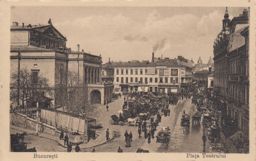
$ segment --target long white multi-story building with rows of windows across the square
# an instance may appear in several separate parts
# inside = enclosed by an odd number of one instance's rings
[[[181,85],[191,84],[192,81],[192,68],[185,65],[184,61],[167,57],[151,63],[149,61],[113,62],[114,91],[116,93],[185,92],[186,88],[181,88]]]

